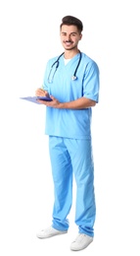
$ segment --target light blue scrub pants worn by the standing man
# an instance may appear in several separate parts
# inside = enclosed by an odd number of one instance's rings
[[[96,214],[94,163],[91,140],[49,137],[49,151],[54,181],[52,226],[69,229],[67,219],[72,204],[72,177],[76,184],[75,224],[79,233],[94,236]]]

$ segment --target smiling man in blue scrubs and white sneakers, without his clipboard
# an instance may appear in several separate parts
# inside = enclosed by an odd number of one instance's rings
[[[51,98],[50,101],[39,99],[39,102],[47,106],[45,133],[49,136],[54,181],[52,225],[38,232],[37,237],[68,232],[74,176],[78,235],[70,244],[71,250],[82,250],[93,241],[96,214],[91,108],[99,98],[99,68],[78,49],[82,30],[83,25],[77,18],[63,18],[60,37],[65,51],[48,61],[43,89],[35,92],[36,96]]]

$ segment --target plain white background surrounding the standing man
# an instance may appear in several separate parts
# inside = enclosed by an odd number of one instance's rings
[[[95,239],[79,253],[139,256],[138,0],[0,2],[0,254],[73,253],[74,193],[69,233],[36,238],[51,223],[53,206],[45,108],[20,99],[34,95],[48,58],[63,51],[59,27],[66,15],[83,22],[79,48],[98,63],[101,77],[92,125]]]

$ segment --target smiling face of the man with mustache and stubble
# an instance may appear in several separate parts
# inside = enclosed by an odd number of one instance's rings
[[[66,50],[71,50],[77,47],[78,41],[81,39],[82,34],[77,31],[73,25],[63,25],[61,32],[61,42]]]

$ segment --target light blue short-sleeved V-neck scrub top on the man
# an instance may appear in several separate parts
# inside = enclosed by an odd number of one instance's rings
[[[99,68],[97,63],[81,52],[81,61],[76,72],[76,80],[71,80],[79,60],[79,53],[65,65],[64,55],[59,60],[56,70],[54,65],[48,82],[52,64],[58,56],[48,61],[44,76],[43,89],[60,102],[68,102],[79,97],[87,97],[98,102]],[[91,139],[92,109],[59,109],[46,107],[45,134],[70,139]]]

